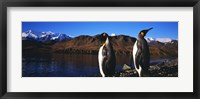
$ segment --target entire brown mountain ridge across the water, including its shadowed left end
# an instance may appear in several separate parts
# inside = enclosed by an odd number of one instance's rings
[[[136,38],[127,35],[110,36],[116,55],[132,55],[133,45]],[[101,46],[100,35],[81,35],[62,41],[37,42],[34,40],[23,40],[23,53],[67,53],[67,54],[96,54]],[[148,42],[151,59],[177,58],[178,40],[160,42],[151,40]]]

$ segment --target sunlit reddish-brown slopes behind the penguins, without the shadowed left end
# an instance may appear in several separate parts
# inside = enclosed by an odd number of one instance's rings
[[[74,39],[58,42],[52,46],[52,51],[57,53],[80,53],[80,54],[97,54],[101,46],[99,35],[96,36],[79,36]],[[131,55],[136,38],[118,35],[111,36],[110,41],[114,51],[119,55]],[[178,57],[178,41],[170,42],[149,42],[150,54],[153,59]]]

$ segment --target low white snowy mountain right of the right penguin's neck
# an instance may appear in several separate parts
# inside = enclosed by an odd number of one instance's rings
[[[152,38],[152,37],[149,37],[149,38],[145,38],[147,40],[147,42],[153,42],[153,41],[158,41],[158,42],[162,42],[162,43],[167,43],[167,42],[172,42],[173,39],[171,38]]]

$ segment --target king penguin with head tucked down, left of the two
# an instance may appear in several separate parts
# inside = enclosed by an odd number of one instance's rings
[[[109,39],[105,32],[100,35],[102,46],[99,49],[98,61],[102,77],[112,77],[115,73],[116,58]]]

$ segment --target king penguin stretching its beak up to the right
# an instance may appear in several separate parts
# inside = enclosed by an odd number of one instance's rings
[[[139,77],[150,76],[148,70],[150,65],[150,52],[148,43],[144,37],[151,29],[153,28],[140,31],[133,46],[133,62]]]

